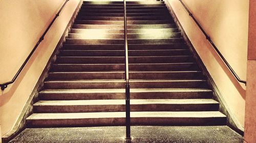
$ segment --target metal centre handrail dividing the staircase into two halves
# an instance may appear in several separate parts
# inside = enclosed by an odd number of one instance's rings
[[[131,117],[130,117],[130,83],[129,83],[129,61],[127,43],[127,21],[126,21],[126,0],[123,1],[123,25],[124,25],[124,50],[125,50],[125,126],[126,137],[131,139]]]

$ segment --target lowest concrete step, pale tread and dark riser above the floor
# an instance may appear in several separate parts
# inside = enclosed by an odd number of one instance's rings
[[[219,111],[131,112],[132,125],[226,125]],[[29,127],[124,126],[125,112],[33,113]]]

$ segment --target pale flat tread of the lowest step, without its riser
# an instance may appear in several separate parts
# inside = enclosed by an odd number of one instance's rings
[[[137,111],[131,118],[225,118],[220,111]],[[27,120],[125,118],[125,112],[33,113]]]

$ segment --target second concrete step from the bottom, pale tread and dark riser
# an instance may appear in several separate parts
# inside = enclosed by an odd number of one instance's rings
[[[215,111],[213,99],[131,99],[131,111]],[[125,111],[124,99],[37,101],[34,113],[119,112]]]

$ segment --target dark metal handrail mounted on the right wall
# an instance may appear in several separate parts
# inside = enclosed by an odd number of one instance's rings
[[[231,66],[228,64],[227,60],[224,58],[224,56],[221,54],[221,52],[219,51],[219,49],[215,46],[214,42],[211,41],[210,37],[206,34],[206,32],[203,30],[202,26],[198,23],[198,21],[196,20],[196,18],[193,16],[193,14],[187,9],[187,7],[185,6],[185,4],[182,2],[182,0],[179,0],[181,2],[181,4],[183,5],[183,7],[186,9],[186,11],[188,12],[189,16],[191,16],[193,18],[193,20],[196,22],[196,24],[198,25],[198,27],[200,28],[200,30],[203,32],[204,36],[206,37],[206,39],[210,42],[211,46],[214,47],[214,49],[217,51],[217,53],[219,54],[219,56],[221,57],[221,59],[223,60],[223,62],[226,64],[226,66],[228,67],[228,69],[231,71],[231,73],[233,74],[234,77],[236,77],[236,79],[239,82],[245,83],[246,85],[246,81],[242,80],[239,78],[239,76],[237,75],[236,72],[234,72],[234,70],[231,68]]]

